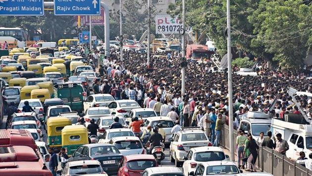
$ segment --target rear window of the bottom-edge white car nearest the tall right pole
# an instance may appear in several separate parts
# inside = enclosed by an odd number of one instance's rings
[[[222,165],[222,166],[208,166],[206,175],[230,175],[239,174],[236,166]]]

